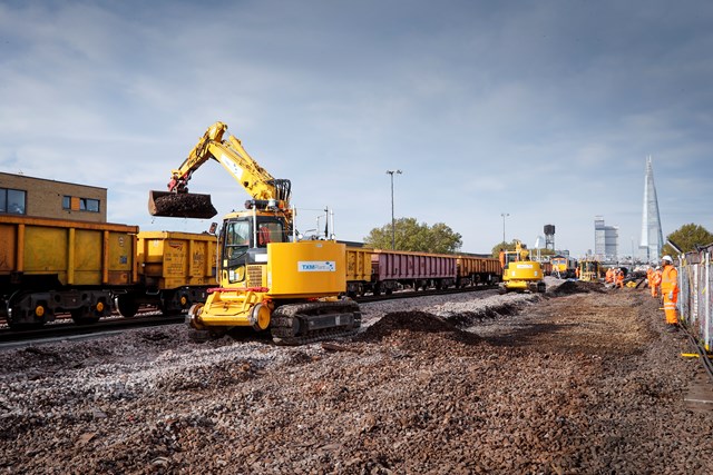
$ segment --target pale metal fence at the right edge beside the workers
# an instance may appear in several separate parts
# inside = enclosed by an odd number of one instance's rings
[[[696,253],[686,253],[678,269],[678,311],[699,343],[710,352],[713,348],[713,246]]]

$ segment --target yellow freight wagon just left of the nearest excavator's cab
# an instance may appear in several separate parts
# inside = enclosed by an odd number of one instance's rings
[[[115,304],[124,317],[140,305],[157,306],[165,315],[205,301],[216,285],[217,238],[209,234],[140,231],[136,261],[138,283],[117,291]]]

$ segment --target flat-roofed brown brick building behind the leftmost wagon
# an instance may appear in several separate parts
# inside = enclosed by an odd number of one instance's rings
[[[0,172],[0,215],[107,222],[107,189]]]

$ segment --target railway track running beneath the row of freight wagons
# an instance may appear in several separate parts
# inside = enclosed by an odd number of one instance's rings
[[[491,290],[498,286],[475,286],[463,288],[449,288],[441,290],[401,290],[392,294],[380,296],[362,296],[355,300],[360,304],[370,304],[387,300],[397,300],[404,298],[432,297],[449,294],[463,294],[469,291]],[[162,325],[174,325],[183,323],[185,314],[164,316],[159,310],[154,308],[145,308],[139,311],[136,317],[124,318],[118,314],[109,318],[102,319],[92,325],[77,325],[67,315],[67,318],[58,318],[56,321],[37,329],[11,330],[7,327],[0,328],[0,348],[3,346],[13,346],[17,344],[31,344],[36,342],[47,342],[56,339],[70,339],[91,337],[99,334],[123,331],[134,328],[146,328]]]

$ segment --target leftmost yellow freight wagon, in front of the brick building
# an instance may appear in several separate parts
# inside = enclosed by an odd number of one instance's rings
[[[94,323],[111,308],[113,286],[137,279],[137,226],[0,216],[0,317],[38,326],[70,313]]]

